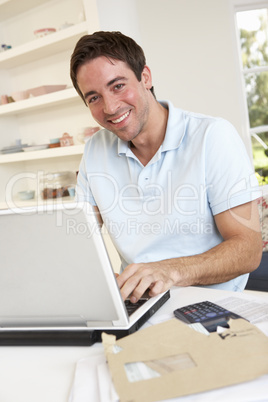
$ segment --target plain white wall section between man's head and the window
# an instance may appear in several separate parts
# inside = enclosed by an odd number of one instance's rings
[[[158,99],[231,121],[248,152],[231,0],[136,0]]]

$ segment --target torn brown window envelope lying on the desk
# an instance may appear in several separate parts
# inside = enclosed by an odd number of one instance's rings
[[[243,319],[229,325],[223,334],[207,336],[172,319],[118,341],[103,334],[120,401],[175,398],[268,373],[268,337]]]

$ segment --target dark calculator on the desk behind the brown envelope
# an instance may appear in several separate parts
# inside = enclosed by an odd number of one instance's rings
[[[200,323],[209,332],[215,332],[217,326],[229,328],[230,318],[243,318],[210,301],[204,301],[178,308],[174,315],[186,324]]]

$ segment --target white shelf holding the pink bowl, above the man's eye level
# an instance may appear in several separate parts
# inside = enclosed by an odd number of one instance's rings
[[[80,22],[43,38],[35,39],[21,46],[0,53],[0,68],[14,68],[21,64],[43,59],[72,49],[78,39],[87,33],[87,23]]]

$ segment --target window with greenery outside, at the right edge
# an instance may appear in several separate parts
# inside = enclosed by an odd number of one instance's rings
[[[236,12],[239,53],[251,134],[253,163],[260,184],[268,184],[268,4]]]

